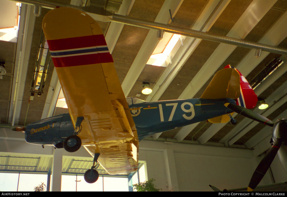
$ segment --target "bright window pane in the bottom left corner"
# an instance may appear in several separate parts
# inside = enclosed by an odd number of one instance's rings
[[[17,192],[18,173],[0,173],[0,191]]]

